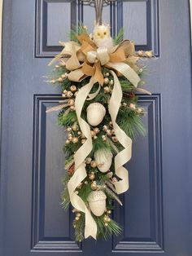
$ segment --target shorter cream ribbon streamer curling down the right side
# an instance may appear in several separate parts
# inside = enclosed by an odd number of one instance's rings
[[[116,123],[116,117],[120,109],[120,102],[123,96],[120,82],[116,73],[111,71],[114,78],[114,88],[112,90],[111,99],[109,102],[109,113],[111,115],[111,121],[115,130],[115,134],[119,142],[124,149],[119,152],[115,157],[115,171],[116,175],[121,179],[115,183],[116,192],[118,194],[123,193],[129,189],[129,173],[124,168],[124,164],[131,159],[132,155],[132,139],[125,134],[124,130],[120,129],[120,126]]]

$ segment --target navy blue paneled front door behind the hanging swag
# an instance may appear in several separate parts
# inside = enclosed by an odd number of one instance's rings
[[[68,40],[71,24],[91,29],[94,8],[75,0],[10,0],[3,8],[1,256],[191,256],[191,63],[188,0],[125,0],[104,7],[103,20],[147,61],[145,138],[133,143],[129,191],[114,218],[124,227],[110,241],[73,241],[72,213],[60,203],[65,141],[57,114],[59,88],[47,64]]]

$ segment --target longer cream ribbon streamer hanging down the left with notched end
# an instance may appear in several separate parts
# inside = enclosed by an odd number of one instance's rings
[[[89,155],[89,152],[91,152],[93,148],[89,124],[81,118],[81,110],[85,103],[85,99],[89,95],[89,92],[93,86],[94,77],[91,77],[89,83],[83,86],[76,95],[76,117],[79,122],[79,126],[81,127],[81,132],[86,137],[86,141],[74,155],[75,172],[68,182],[68,192],[73,207],[76,210],[80,210],[81,212],[85,213],[85,238],[92,236],[96,240],[97,224],[95,223],[94,218],[87,209],[85,202],[82,201],[81,197],[76,195],[75,193],[75,189],[78,184],[81,183],[82,180],[85,179],[87,176],[85,170],[85,158]]]

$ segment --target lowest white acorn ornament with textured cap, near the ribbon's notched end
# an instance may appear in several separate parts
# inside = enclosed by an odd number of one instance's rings
[[[87,201],[89,208],[95,216],[102,216],[106,210],[106,194],[99,190],[89,193]]]

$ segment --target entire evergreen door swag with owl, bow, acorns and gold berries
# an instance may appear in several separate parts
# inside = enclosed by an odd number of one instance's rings
[[[132,139],[145,133],[135,93],[149,93],[138,87],[144,69],[139,59],[152,53],[136,52],[122,36],[120,30],[112,39],[107,24],[96,24],[92,34],[80,24],[50,62],[57,62],[50,82],[61,86],[63,100],[47,112],[59,110],[59,125],[68,131],[62,205],[74,208],[76,241],[120,234],[111,218],[113,201],[122,205],[118,195],[129,189],[124,164]]]

